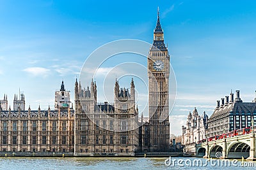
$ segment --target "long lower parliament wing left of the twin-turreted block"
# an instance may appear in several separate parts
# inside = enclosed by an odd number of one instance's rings
[[[5,97],[7,100],[7,96]],[[70,99],[69,99],[70,100]],[[74,152],[74,110],[25,110],[24,95],[15,94],[13,110],[0,110],[0,151],[20,155]]]

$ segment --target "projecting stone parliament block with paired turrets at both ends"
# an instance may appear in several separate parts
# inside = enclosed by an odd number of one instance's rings
[[[97,103],[96,82],[82,89],[76,81],[75,155],[134,155],[138,146],[138,129],[132,129],[138,123],[132,119],[138,116],[134,88],[133,80],[131,93],[116,80],[114,103]]]

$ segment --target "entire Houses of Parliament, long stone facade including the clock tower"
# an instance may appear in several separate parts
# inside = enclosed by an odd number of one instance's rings
[[[76,80],[74,104],[62,81],[55,92],[54,109],[25,110],[24,94],[14,96],[13,110],[7,96],[0,100],[1,152],[62,152],[78,156],[136,152],[168,152],[170,146],[170,56],[164,45],[159,14],[153,45],[148,53],[148,118],[138,117],[135,83],[113,90],[114,103],[98,103],[97,85],[83,88]],[[74,106],[73,106],[74,105]]]

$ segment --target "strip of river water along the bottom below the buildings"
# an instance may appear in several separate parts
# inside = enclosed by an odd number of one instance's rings
[[[230,166],[218,165],[217,160],[212,164],[205,161],[207,159],[198,158],[172,158],[172,162],[180,159],[180,165],[166,166],[168,158],[139,158],[139,157],[66,157],[66,158],[31,158],[31,157],[1,157],[0,169],[255,169],[255,162],[244,162],[247,167],[241,167],[242,161],[238,160],[236,164]],[[202,161],[198,166],[195,160]],[[221,160],[220,160],[221,161]],[[189,162],[192,162],[191,166]],[[183,167],[181,165],[184,165]],[[248,164],[250,164],[248,167]],[[225,165],[225,164],[224,164]],[[252,167],[253,166],[253,167]]]

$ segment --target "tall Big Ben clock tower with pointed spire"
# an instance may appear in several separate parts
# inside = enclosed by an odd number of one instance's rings
[[[164,32],[157,12],[154,41],[148,53],[148,111],[150,124],[150,152],[168,151],[170,55],[164,45]]]

